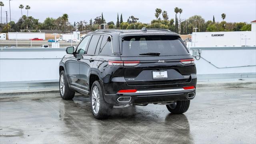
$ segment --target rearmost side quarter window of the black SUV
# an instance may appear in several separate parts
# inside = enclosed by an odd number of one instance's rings
[[[110,36],[103,36],[102,42],[100,45],[100,54],[113,55]]]

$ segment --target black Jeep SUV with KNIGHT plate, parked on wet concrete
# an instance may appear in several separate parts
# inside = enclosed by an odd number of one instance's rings
[[[60,96],[90,96],[97,119],[107,118],[112,108],[150,103],[181,114],[196,93],[194,59],[169,30],[96,30],[66,52],[59,66]]]

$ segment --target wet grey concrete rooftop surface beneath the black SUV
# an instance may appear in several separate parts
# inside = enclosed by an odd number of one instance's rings
[[[96,120],[80,94],[2,95],[0,143],[256,143],[256,88],[202,87],[184,114],[149,104],[116,108],[107,120]]]

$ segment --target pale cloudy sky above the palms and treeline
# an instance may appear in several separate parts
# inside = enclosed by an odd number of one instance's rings
[[[4,2],[2,7],[2,18],[6,20],[5,12],[8,11],[9,0]],[[96,16],[103,16],[106,22],[116,22],[117,13],[123,15],[124,21],[131,15],[139,18],[140,22],[150,23],[155,18],[156,8],[161,8],[168,12],[169,18],[175,18],[174,8],[182,8],[181,19],[189,18],[193,15],[200,15],[206,21],[221,21],[221,14],[226,14],[227,22],[251,22],[256,20],[256,0],[11,0],[12,20],[17,21],[21,17],[18,8],[20,4],[29,5],[29,16],[43,22],[46,17],[58,18],[66,13],[71,23],[86,20],[89,22]],[[26,10],[22,10],[26,14]]]

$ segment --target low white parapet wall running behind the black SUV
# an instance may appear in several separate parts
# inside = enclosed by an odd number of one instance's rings
[[[193,48],[190,54],[199,49],[195,63],[201,80],[256,76],[256,47]],[[65,54],[65,48],[0,48],[1,90],[56,86]]]

